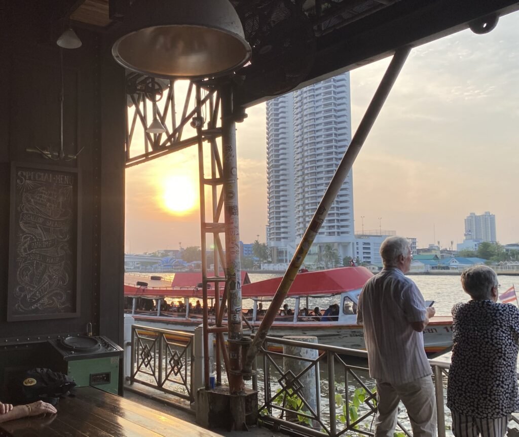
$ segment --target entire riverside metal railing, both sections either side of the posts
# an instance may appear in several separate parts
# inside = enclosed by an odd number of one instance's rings
[[[193,333],[133,325],[130,383],[194,402],[194,338]],[[316,354],[309,358],[283,353],[285,346],[310,349]],[[294,362],[298,362],[297,371],[293,370]],[[445,408],[450,363],[429,363],[438,437],[450,436],[450,414]],[[258,391],[258,410],[265,425],[310,437],[373,435],[375,381],[369,377],[365,351],[268,336],[254,364],[256,373],[247,385]],[[515,415],[511,419],[519,424]],[[412,436],[402,404],[397,424],[396,435]]]

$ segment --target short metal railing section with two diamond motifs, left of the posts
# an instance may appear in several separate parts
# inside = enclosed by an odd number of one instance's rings
[[[130,384],[194,401],[193,333],[132,325]]]

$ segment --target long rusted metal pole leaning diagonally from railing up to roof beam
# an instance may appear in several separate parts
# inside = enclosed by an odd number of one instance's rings
[[[384,102],[386,101],[386,98],[389,95],[395,80],[397,80],[400,70],[402,69],[405,60],[407,59],[409,51],[411,51],[410,47],[403,47],[394,54],[393,59],[391,60],[386,73],[384,74],[384,77],[380,81],[377,91],[375,92],[375,95],[373,96],[372,101],[367,107],[366,113],[364,114],[364,117],[359,124],[359,128],[353,136],[348,149],[344,153],[343,159],[340,161],[339,166],[337,167],[337,170],[335,171],[335,174],[330,181],[330,185],[324,192],[323,198],[317,207],[316,213],[313,215],[312,220],[310,221],[310,224],[308,225],[308,228],[306,229],[306,232],[301,239],[301,243],[299,243],[299,246],[297,246],[294,257],[292,258],[292,261],[290,261],[290,265],[286,270],[281,283],[279,284],[274,299],[272,299],[272,302],[267,310],[267,313],[265,314],[260,328],[258,328],[258,331],[254,336],[254,340],[247,354],[247,359],[243,365],[245,369],[250,368],[255,356],[258,353],[258,350],[260,350],[261,345],[267,336],[268,330],[270,329],[272,322],[274,322],[276,314],[283,305],[286,294],[289,292],[290,286],[292,285],[297,272],[301,268],[301,264],[303,264],[303,261],[306,257],[306,254],[308,253],[308,250],[310,249],[310,246],[313,243],[313,240],[316,238],[319,229],[321,228],[321,225],[326,218],[326,215],[328,214],[333,201],[335,200],[337,193],[343,186],[344,180],[350,172],[353,162],[357,158],[357,155],[359,154],[368,133],[370,133],[370,130],[375,123],[380,109],[382,109],[384,106]]]

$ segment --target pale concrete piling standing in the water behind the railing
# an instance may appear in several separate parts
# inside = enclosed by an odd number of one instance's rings
[[[287,335],[284,336],[283,339],[313,344],[318,343],[317,337],[306,335]],[[291,355],[295,357],[317,360],[317,358],[319,357],[319,351],[317,349],[307,349],[299,346],[283,345],[283,355]],[[300,361],[286,357],[283,358],[283,370],[285,373],[291,370],[294,375],[297,375],[298,373],[301,373],[304,369],[306,369],[309,364],[310,363],[308,361]],[[310,405],[312,410],[319,414],[319,412],[321,411],[319,363],[317,363],[302,377],[300,377],[298,381],[299,384],[303,386],[303,388],[298,391],[298,396],[300,398],[304,398],[308,405]],[[303,405],[301,409],[303,411],[307,410],[305,405]],[[287,413],[286,419],[297,420],[297,414]]]

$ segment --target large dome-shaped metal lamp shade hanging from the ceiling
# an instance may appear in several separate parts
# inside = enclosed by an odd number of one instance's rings
[[[116,41],[112,54],[122,66],[147,76],[223,76],[251,55],[228,0],[139,0],[127,19],[130,32]]]

